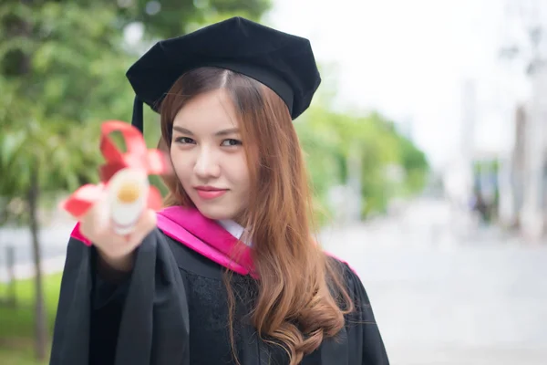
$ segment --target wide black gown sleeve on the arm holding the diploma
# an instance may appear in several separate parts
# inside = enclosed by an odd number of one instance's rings
[[[70,238],[50,365],[189,365],[187,297],[165,236],[144,239],[119,285],[96,275],[93,255]]]

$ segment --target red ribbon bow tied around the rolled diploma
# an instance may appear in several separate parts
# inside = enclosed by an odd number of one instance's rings
[[[125,153],[119,151],[118,147],[108,138],[108,135],[114,131],[121,132],[127,149]],[[165,154],[155,149],[148,150],[140,131],[124,121],[107,120],[102,123],[100,151],[106,161],[98,169],[101,183],[83,185],[60,204],[62,209],[74,217],[80,217],[88,212],[88,209],[98,201],[110,178],[121,169],[140,169],[149,175],[163,175],[171,172],[170,163],[165,158]],[[156,211],[160,210],[161,200],[158,189],[150,186],[148,207]]]

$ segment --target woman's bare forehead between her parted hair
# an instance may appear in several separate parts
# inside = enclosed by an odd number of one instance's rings
[[[191,99],[175,116],[173,126],[189,130],[212,130],[238,126],[232,99],[225,89],[216,89]]]

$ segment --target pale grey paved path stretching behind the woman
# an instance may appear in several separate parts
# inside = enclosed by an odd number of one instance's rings
[[[50,270],[71,227],[44,235]],[[365,283],[392,364],[547,365],[547,245],[478,230],[430,201],[322,238]],[[19,264],[31,262],[26,233],[1,233],[0,249],[6,239]]]

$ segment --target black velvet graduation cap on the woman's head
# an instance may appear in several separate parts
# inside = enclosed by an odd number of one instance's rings
[[[132,124],[143,130],[142,103],[154,111],[192,68],[215,66],[254,78],[284,100],[293,120],[306,110],[321,78],[309,40],[232,17],[156,43],[129,68],[136,97]]]

